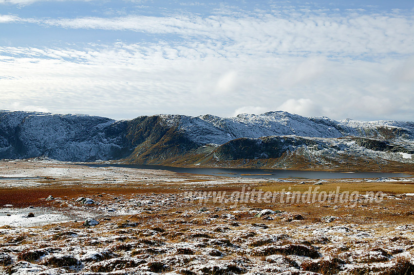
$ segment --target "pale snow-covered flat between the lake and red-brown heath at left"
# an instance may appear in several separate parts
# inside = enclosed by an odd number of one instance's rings
[[[89,167],[84,165],[70,165],[68,163],[56,163],[49,161],[48,164],[34,162],[30,167],[20,169],[19,165],[24,162],[13,162],[8,167],[2,167],[0,177],[0,188],[48,186],[49,179],[59,178],[60,185],[94,184],[94,185],[118,185],[133,183],[165,183],[165,184],[195,184],[214,185],[227,184],[234,179],[224,176],[205,175],[180,175],[166,170],[135,169],[125,167]],[[255,179],[237,178],[240,183],[254,182]],[[269,179],[270,180],[270,179]]]

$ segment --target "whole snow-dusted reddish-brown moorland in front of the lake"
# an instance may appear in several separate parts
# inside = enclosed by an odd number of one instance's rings
[[[0,200],[7,205],[0,210],[0,274],[414,272],[412,178],[276,183],[24,161],[0,163],[0,173],[25,178],[0,180]],[[361,195],[357,205],[236,205],[191,202],[185,193],[232,192],[241,187],[307,189],[316,183],[320,188],[339,185],[342,189],[360,184],[364,190],[380,185],[386,194],[380,203],[365,203]],[[25,195],[16,198],[19,194]],[[34,217],[28,217],[30,212]],[[255,217],[259,212],[263,215]],[[45,215],[68,219],[29,222]]]

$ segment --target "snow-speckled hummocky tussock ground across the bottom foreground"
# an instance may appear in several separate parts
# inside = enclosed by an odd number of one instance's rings
[[[221,207],[199,211],[173,196],[168,206],[141,201],[144,215],[101,218],[89,227],[0,228],[0,259],[24,275],[310,275],[307,265],[317,268],[320,261],[338,261],[338,274],[345,275],[356,268],[392,270],[397,259],[414,257],[413,224],[289,221],[288,211],[255,218],[260,210],[251,206],[233,209],[234,215]]]

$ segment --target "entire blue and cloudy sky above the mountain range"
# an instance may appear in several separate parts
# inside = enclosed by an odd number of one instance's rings
[[[413,121],[413,106],[413,0],[0,0],[0,109]]]

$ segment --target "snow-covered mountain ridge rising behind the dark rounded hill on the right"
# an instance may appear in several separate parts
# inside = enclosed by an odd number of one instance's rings
[[[414,139],[414,122],[331,120],[326,117],[306,118],[287,112],[261,115],[240,114],[234,118],[213,115],[188,117],[160,115],[167,125],[178,125],[180,131],[199,144],[224,144],[241,137],[295,135],[299,137],[378,137]]]

